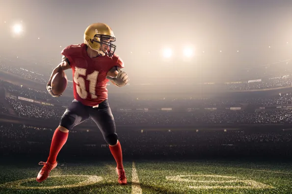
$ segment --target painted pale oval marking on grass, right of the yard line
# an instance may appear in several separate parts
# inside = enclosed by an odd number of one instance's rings
[[[192,177],[218,177],[218,178],[228,178],[228,179],[234,179],[234,180],[190,180],[187,178],[187,176]],[[273,189],[274,187],[270,185],[266,185],[264,183],[260,183],[254,180],[242,180],[235,176],[221,176],[221,175],[177,175],[177,176],[166,176],[167,180],[172,181],[180,181],[180,182],[193,182],[193,183],[244,183],[247,186],[189,186],[189,189]]]

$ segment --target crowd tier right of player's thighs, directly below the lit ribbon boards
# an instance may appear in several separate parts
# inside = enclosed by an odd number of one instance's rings
[[[292,111],[116,112],[120,125],[273,124],[292,123]]]

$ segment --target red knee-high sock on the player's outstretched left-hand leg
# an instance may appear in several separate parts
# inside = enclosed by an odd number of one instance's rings
[[[48,162],[54,164],[57,159],[57,155],[63,145],[66,143],[68,138],[68,132],[62,132],[57,128],[53,134],[51,149],[50,149],[50,156],[48,158]]]

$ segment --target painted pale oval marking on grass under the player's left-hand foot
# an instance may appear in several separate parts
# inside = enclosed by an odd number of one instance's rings
[[[27,179],[21,179],[21,180],[17,180],[17,181],[11,181],[11,182],[0,184],[0,188],[9,188],[9,189],[59,189],[59,188],[72,188],[72,187],[80,187],[80,186],[92,185],[92,184],[95,184],[97,182],[102,181],[102,179],[103,179],[101,176],[93,176],[93,175],[55,175],[55,176],[49,176],[49,178],[62,177],[62,176],[70,176],[70,177],[84,176],[84,177],[87,177],[87,179],[84,180],[84,181],[81,181],[79,183],[70,184],[70,185],[62,185],[62,186],[51,186],[51,187],[47,187],[47,186],[41,186],[41,187],[22,186],[21,184],[26,183],[28,181],[35,181],[35,178],[27,178]]]

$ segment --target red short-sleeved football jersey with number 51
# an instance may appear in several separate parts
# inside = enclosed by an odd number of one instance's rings
[[[90,58],[87,45],[70,45],[62,50],[70,62],[73,72],[74,98],[86,106],[96,106],[107,99],[107,72],[114,66],[124,68],[117,55]]]

